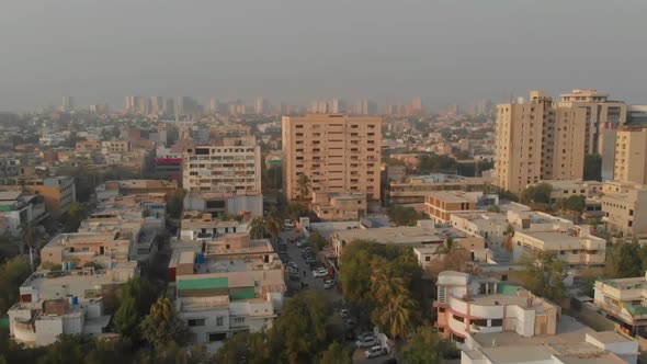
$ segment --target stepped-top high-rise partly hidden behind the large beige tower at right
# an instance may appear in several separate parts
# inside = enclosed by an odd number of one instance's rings
[[[576,89],[571,93],[560,95],[560,105],[583,107],[587,112],[587,129],[584,151],[587,155],[602,155],[603,145],[600,144],[600,134],[604,124],[622,126],[627,120],[627,105],[623,101],[611,101],[605,93],[599,93],[594,89]]]

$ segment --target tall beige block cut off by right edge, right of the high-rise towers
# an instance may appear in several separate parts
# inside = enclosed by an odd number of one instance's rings
[[[615,138],[613,179],[647,183],[647,128],[623,127]]]

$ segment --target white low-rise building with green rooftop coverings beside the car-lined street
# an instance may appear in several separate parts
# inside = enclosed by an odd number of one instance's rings
[[[236,332],[270,328],[286,291],[281,259],[265,239],[228,234],[174,246],[169,275],[175,310],[193,342],[216,351]]]

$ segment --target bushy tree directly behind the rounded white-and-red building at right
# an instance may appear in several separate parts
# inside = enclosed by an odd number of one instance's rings
[[[553,252],[537,251],[523,255],[521,272],[523,285],[538,297],[552,300],[563,299],[566,295],[564,278],[566,278],[566,262],[559,260]]]

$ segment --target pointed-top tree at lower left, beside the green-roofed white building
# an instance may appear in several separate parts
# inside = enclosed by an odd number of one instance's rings
[[[150,307],[150,314],[141,321],[139,330],[154,348],[163,348],[170,342],[183,345],[191,340],[191,331],[175,317],[171,300],[166,296],[160,296]]]

